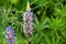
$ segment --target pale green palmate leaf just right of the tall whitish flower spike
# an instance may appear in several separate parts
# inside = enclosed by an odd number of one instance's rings
[[[42,20],[42,19],[41,19]],[[47,22],[47,18],[45,20],[43,20],[43,22],[38,21],[36,15],[34,16],[34,29],[37,30],[37,31],[42,31],[44,30],[45,28],[48,28],[48,25],[46,25],[46,22]]]

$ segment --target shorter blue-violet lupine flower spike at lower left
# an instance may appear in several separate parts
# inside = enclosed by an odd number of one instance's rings
[[[14,33],[11,26],[7,28],[6,38],[7,38],[7,44],[14,44]]]

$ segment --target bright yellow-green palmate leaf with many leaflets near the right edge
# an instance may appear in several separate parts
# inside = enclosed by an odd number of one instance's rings
[[[56,19],[53,19],[52,20],[48,20],[48,24],[51,26],[51,29],[53,30],[62,30],[64,29],[64,25],[65,25],[65,22],[64,22],[64,19],[63,18],[56,18]]]

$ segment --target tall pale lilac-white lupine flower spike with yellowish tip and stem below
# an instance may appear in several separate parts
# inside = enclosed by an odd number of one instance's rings
[[[29,41],[29,35],[32,35],[32,31],[33,31],[33,28],[32,28],[32,25],[33,25],[33,12],[31,12],[31,8],[30,8],[29,2],[26,6],[26,12],[24,12],[24,14],[23,14],[23,21],[24,21],[23,31],[24,31],[25,36],[28,37],[28,41]]]

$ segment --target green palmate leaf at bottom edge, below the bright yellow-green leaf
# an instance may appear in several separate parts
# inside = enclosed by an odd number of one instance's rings
[[[43,32],[41,34],[45,37],[44,40],[45,40],[46,44],[62,44],[61,38],[56,37],[56,35],[54,35],[54,34],[51,37]]]

